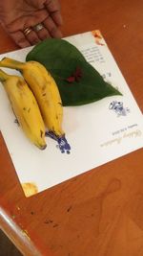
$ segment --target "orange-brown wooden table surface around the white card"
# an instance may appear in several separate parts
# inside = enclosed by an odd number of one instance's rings
[[[64,36],[100,29],[143,110],[143,1],[61,5]],[[2,28],[0,35],[0,54],[18,49]],[[0,136],[0,226],[26,256],[141,256],[142,163],[143,151],[133,151],[25,198]]]

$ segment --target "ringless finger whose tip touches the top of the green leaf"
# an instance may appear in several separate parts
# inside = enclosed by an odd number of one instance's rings
[[[51,19],[50,16],[46,20],[43,21],[43,24],[44,24],[45,28],[49,31],[51,37],[55,37],[55,38],[62,37],[61,31],[55,25],[55,23],[53,22],[53,20]]]

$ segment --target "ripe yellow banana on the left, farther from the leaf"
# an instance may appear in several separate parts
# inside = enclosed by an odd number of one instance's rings
[[[2,70],[0,70],[0,81],[4,84],[19,125],[31,142],[40,150],[44,150],[47,147],[45,125],[28,84],[24,79],[8,75]]]

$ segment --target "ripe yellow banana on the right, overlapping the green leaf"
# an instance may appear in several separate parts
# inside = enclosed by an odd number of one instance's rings
[[[3,58],[0,66],[19,70],[28,82],[40,107],[44,122],[56,136],[64,135],[62,129],[63,107],[58,87],[47,69],[37,61],[20,62]]]

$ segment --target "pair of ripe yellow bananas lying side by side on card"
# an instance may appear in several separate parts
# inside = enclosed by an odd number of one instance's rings
[[[55,136],[64,136],[63,107],[58,87],[47,69],[37,61],[3,58],[1,67],[19,70],[23,78],[0,70],[0,81],[10,99],[19,125],[40,150],[46,148],[45,126]]]

